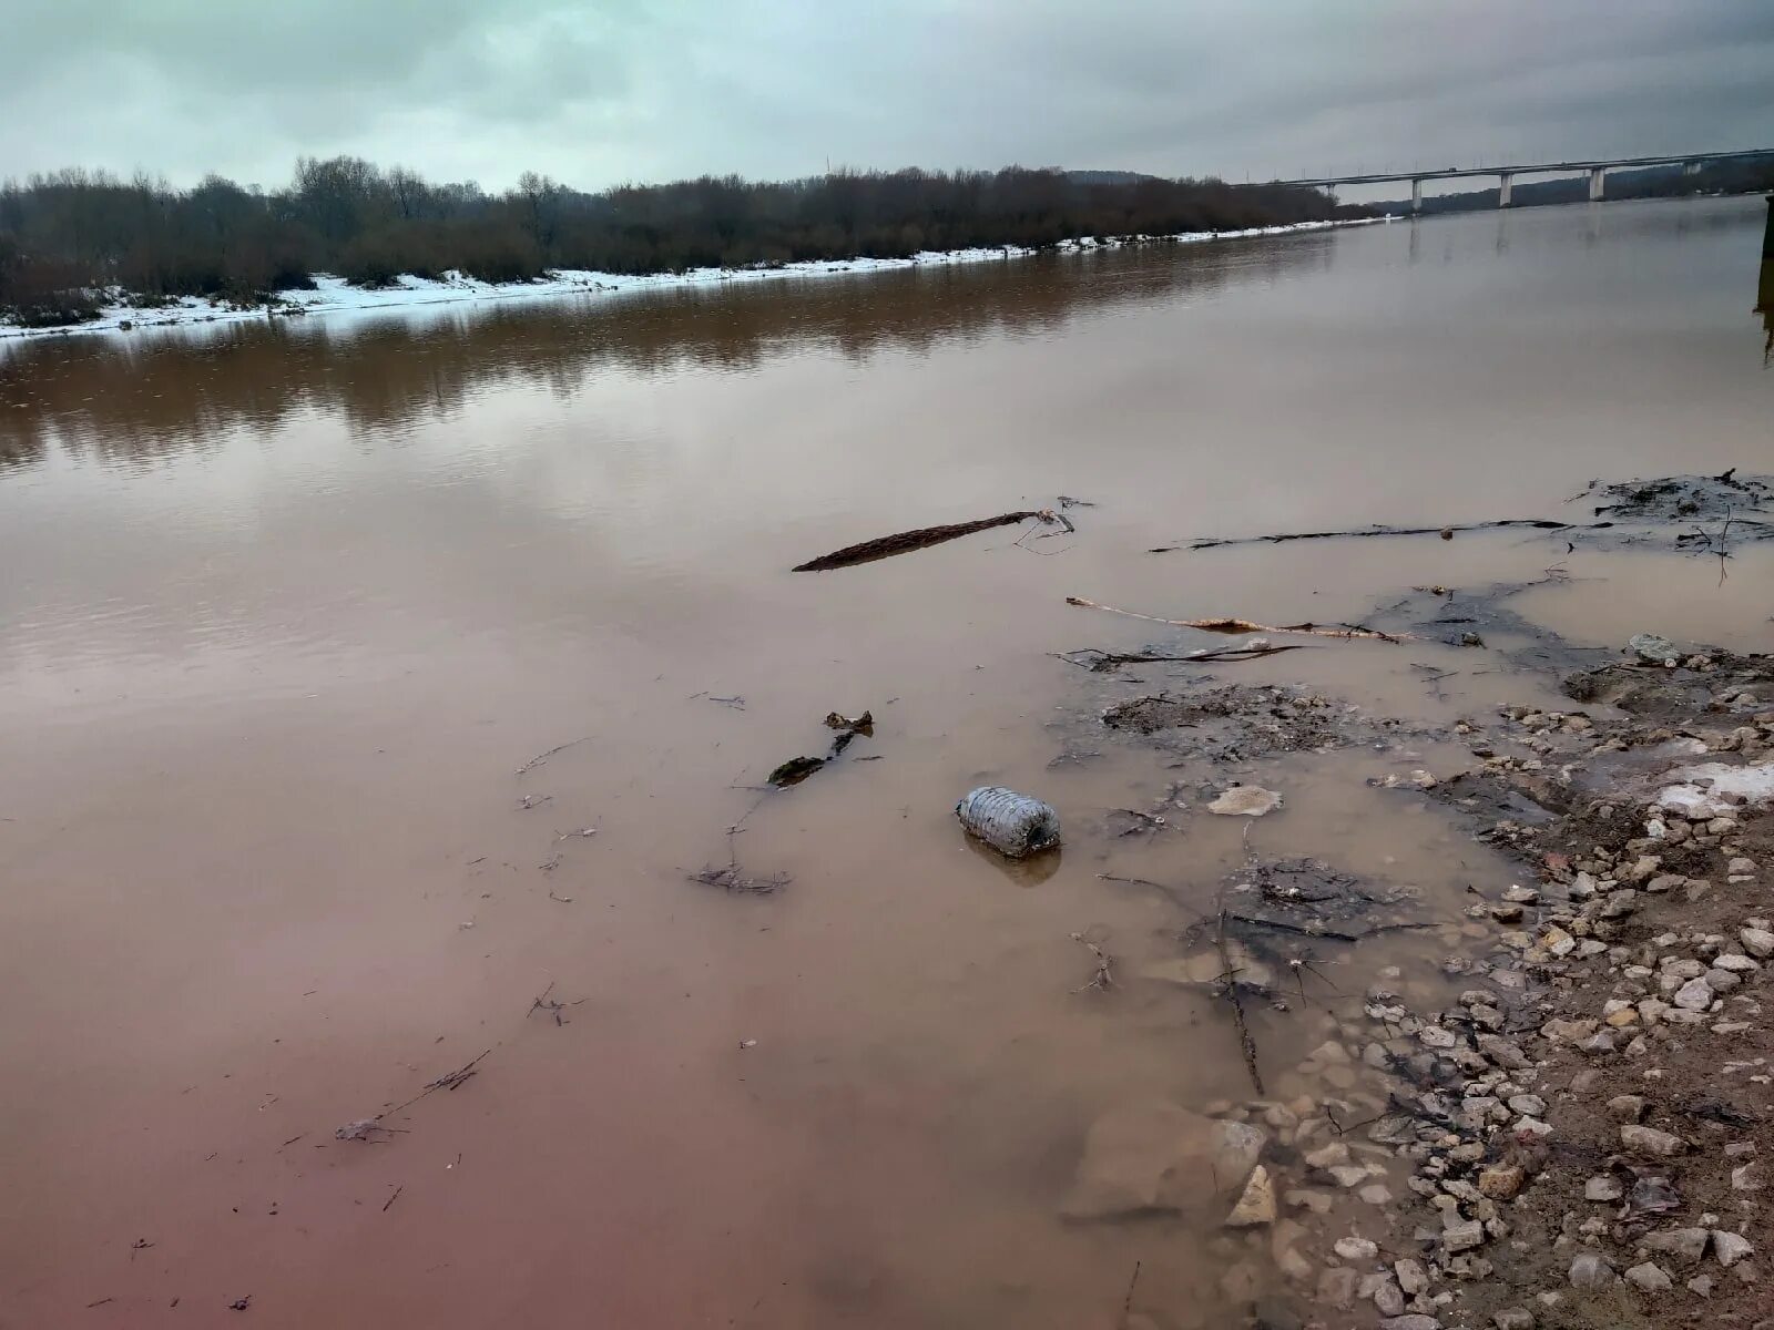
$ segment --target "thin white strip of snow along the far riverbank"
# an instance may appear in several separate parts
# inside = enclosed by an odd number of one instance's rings
[[[1343,225],[1364,225],[1384,218],[1357,222],[1299,222],[1286,227],[1254,227],[1251,231],[1192,231],[1178,236],[1135,236],[1126,239],[1071,239],[1063,241],[1063,254],[1123,245],[1183,243],[1199,245],[1221,239],[1249,239],[1252,236],[1286,236],[1295,231],[1327,231]],[[20,328],[0,319],[0,339],[59,337],[66,333],[117,333],[133,328],[167,328],[192,323],[239,323],[245,319],[293,317],[305,314],[362,312],[401,309],[410,305],[440,305],[463,300],[525,300],[534,296],[585,296],[642,287],[711,286],[717,282],[768,282],[779,277],[820,277],[828,273],[876,273],[931,264],[988,262],[1024,259],[1034,250],[1004,245],[999,248],[924,252],[910,259],[816,259],[779,268],[695,268],[687,273],[648,273],[623,277],[580,270],[555,270],[534,282],[481,282],[461,273],[442,278],[401,277],[394,286],[380,289],[355,287],[342,277],[316,277],[314,291],[279,291],[263,305],[232,305],[202,296],[179,296],[158,309],[140,309],[122,303],[122,293],[105,305],[99,317],[87,323],[53,328]]]

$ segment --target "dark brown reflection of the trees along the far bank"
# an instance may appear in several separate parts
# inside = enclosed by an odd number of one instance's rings
[[[353,433],[447,419],[475,394],[529,383],[571,397],[600,371],[750,371],[828,346],[883,349],[1041,335],[1095,310],[1210,296],[1329,261],[1332,236],[1199,250],[1096,250],[857,277],[781,278],[623,296],[451,305],[310,321],[21,342],[0,358],[0,466],[59,442],[99,461],[209,447],[337,415]]]

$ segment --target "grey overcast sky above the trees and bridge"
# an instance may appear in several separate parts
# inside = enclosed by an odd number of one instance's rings
[[[0,0],[0,177],[1267,179],[1774,145],[1769,0]]]

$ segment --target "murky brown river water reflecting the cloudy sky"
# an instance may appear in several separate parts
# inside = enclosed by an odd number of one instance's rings
[[[1213,1224],[1057,1215],[1100,1112],[1251,1094],[1224,1005],[1137,977],[1190,919],[1098,878],[1212,910],[1244,826],[1116,837],[1176,771],[1095,711],[1166,676],[1048,654],[1205,638],[1064,596],[1336,621],[1559,562],[1513,608],[1577,642],[1769,649],[1767,548],[1723,582],[1520,532],[1144,553],[1774,470],[1763,211],[0,346],[0,1326],[1111,1326],[1135,1261],[1150,1325],[1215,1325]],[[1061,493],[1096,504],[1075,537],[788,571]],[[1215,677],[1425,727],[1552,699],[1432,644]],[[873,738],[747,816],[832,709]],[[1249,849],[1458,924],[1508,865],[1366,784],[1458,764],[1222,775],[1286,796]],[[1057,862],[963,841],[988,780],[1059,809]],[[687,881],[740,818],[772,896]],[[1073,991],[1080,931],[1114,990]],[[1270,1089],[1451,938],[1327,949],[1334,993],[1256,1016]]]

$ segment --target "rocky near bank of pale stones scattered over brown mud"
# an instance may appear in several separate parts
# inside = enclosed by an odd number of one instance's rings
[[[1641,637],[1561,688],[1570,709],[1460,720],[1467,770],[1382,782],[1520,872],[1430,935],[1455,943],[1451,1000],[1387,966],[1268,1094],[1107,1114],[1068,1220],[1217,1222],[1221,1293],[1268,1330],[1774,1330],[1774,658]],[[1189,732],[1139,731],[1171,752]],[[1238,910],[1222,929],[1274,922]],[[1185,977],[1288,1007],[1244,945]]]

